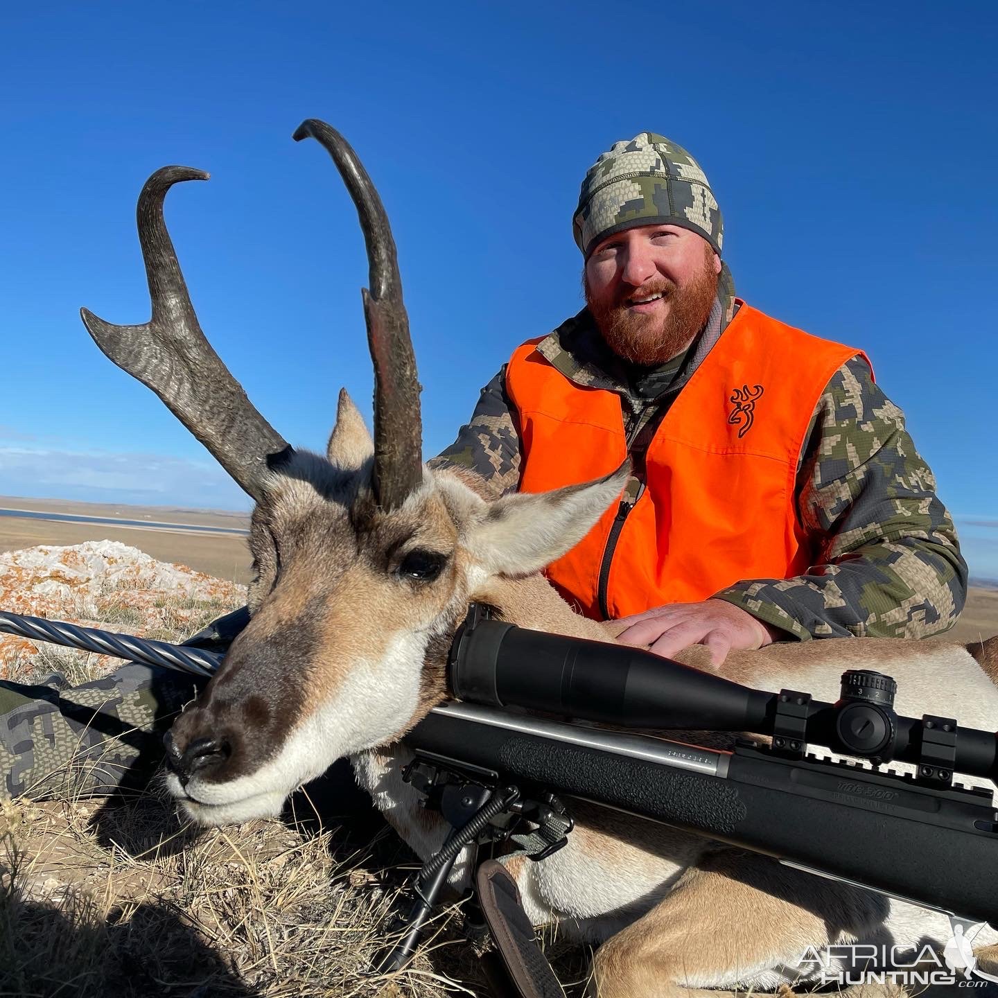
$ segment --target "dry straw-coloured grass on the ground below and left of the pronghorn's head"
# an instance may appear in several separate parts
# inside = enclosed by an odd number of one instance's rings
[[[128,607],[121,593],[104,597]],[[145,633],[172,641],[232,609],[157,603],[160,626]],[[57,671],[75,684],[108,668],[43,645],[11,675]],[[405,971],[368,975],[415,860],[373,812],[330,821],[323,809],[299,793],[281,819],[199,829],[157,779],[122,798],[0,802],[0,996],[488,994],[459,905]],[[588,954],[550,949],[580,993]]]

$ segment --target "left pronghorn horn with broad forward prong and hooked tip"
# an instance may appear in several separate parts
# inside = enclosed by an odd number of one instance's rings
[[[170,411],[258,500],[270,462],[290,452],[256,411],[198,323],[177,253],[163,221],[167,192],[181,181],[207,181],[203,170],[164,167],[146,181],[136,212],[153,317],[143,325],[112,325],[88,308],[83,323],[119,367],[152,388]]]

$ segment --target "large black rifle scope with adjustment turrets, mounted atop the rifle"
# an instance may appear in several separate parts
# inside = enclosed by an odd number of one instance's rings
[[[490,620],[472,606],[455,635],[448,663],[459,700],[519,707],[618,728],[746,732],[778,736],[796,722],[787,748],[807,744],[880,764],[920,766],[920,775],[948,782],[953,772],[998,781],[994,732],[958,728],[951,719],[903,718],[893,711],[896,684],[866,670],[842,675],[835,704],[795,691],[752,690],[652,652],[582,638],[530,631]],[[791,728],[793,726],[791,725]],[[936,745],[944,749],[940,755]],[[773,745],[782,743],[778,738]],[[924,764],[945,758],[936,770]]]

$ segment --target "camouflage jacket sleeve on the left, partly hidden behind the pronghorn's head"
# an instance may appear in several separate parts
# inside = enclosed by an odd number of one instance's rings
[[[506,366],[482,388],[471,419],[460,428],[457,439],[429,466],[460,464],[477,471],[492,483],[496,494],[520,484],[520,432],[516,409],[506,393]]]

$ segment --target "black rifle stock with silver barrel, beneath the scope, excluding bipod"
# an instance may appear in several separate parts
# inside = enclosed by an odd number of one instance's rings
[[[716,751],[451,703],[404,739],[457,762],[998,924],[998,813],[844,762]]]

